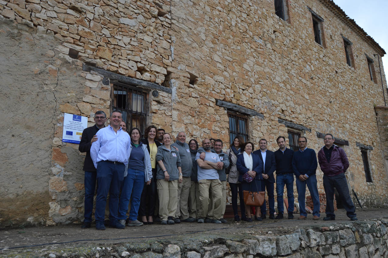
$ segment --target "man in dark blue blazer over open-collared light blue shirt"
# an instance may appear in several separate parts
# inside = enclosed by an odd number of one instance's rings
[[[259,141],[259,147],[260,147],[260,150],[254,151],[253,153],[257,154],[264,163],[264,169],[262,171],[262,176],[264,178],[264,180],[262,180],[262,191],[265,191],[265,188],[267,187],[268,203],[269,203],[269,218],[274,220],[275,219],[274,172],[276,170],[275,153],[273,151],[267,150],[267,140],[265,139],[261,139]],[[267,209],[267,206],[264,201],[263,205],[260,207],[260,210],[262,213],[261,215],[262,219],[267,218],[266,209]]]

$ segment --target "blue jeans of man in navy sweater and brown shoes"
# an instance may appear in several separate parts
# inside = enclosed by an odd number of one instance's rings
[[[313,204],[314,204],[313,216],[319,216],[319,211],[320,211],[319,194],[318,194],[318,188],[317,188],[317,177],[315,174],[308,177],[306,181],[301,181],[298,177],[296,177],[296,190],[298,190],[298,202],[299,202],[300,215],[307,216],[306,199],[305,199],[306,185],[313,199]]]

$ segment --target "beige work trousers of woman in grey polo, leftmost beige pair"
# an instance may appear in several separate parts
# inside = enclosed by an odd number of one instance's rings
[[[174,218],[178,205],[178,180],[157,179],[156,188],[159,196],[160,220],[167,220],[168,217]]]

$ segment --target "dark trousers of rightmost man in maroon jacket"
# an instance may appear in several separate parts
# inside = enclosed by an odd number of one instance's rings
[[[350,198],[348,183],[346,182],[345,173],[328,177],[323,176],[323,187],[326,193],[326,216],[335,218],[334,215],[334,187],[337,189],[338,197],[340,197],[343,207],[346,210],[346,215],[349,218],[356,216],[356,208]]]

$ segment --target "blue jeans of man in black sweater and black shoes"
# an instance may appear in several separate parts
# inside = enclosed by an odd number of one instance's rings
[[[294,212],[294,174],[285,173],[276,175],[276,199],[277,199],[277,210],[279,213],[284,212],[283,205],[283,193],[284,185],[287,187],[288,197],[288,213]]]

